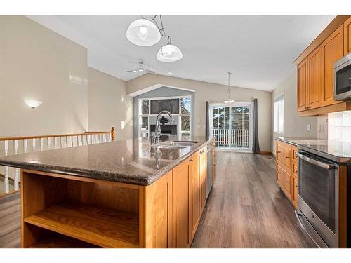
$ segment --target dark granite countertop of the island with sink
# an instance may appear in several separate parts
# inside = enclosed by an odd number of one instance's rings
[[[147,138],[135,138],[6,156],[0,158],[0,165],[149,185],[212,142],[206,137],[170,136],[169,140],[197,143],[183,149],[162,149],[150,147]]]

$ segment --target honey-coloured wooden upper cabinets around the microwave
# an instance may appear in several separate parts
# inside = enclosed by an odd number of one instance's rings
[[[333,20],[296,60],[300,116],[328,114],[351,106],[333,100],[334,63],[351,52],[351,17],[346,18],[341,15]]]

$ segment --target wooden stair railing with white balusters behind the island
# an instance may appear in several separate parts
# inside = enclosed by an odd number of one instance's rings
[[[44,151],[48,149],[60,149],[88,144],[113,142],[114,139],[114,127],[112,127],[110,131],[89,131],[85,133],[26,137],[0,137],[0,142],[4,142],[2,153],[0,144],[0,156],[25,154],[30,151]],[[37,142],[39,142],[39,146],[37,146]],[[9,179],[11,179],[12,173],[14,190],[18,191],[20,189],[20,169],[10,168],[8,166],[0,166],[0,168],[4,169],[2,173],[0,170],[0,177],[4,178],[4,186],[0,187],[0,194],[8,194],[10,192]]]

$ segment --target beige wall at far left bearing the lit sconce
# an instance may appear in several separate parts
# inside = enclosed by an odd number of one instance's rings
[[[0,16],[0,137],[88,128],[86,48],[24,16]],[[37,109],[24,99],[41,100]]]

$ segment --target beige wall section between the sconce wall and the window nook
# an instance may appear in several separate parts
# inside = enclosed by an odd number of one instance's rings
[[[126,81],[88,67],[88,128],[110,130],[116,139],[133,137],[133,98],[126,95]]]

